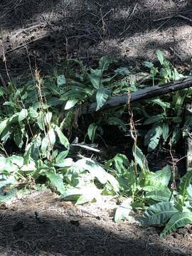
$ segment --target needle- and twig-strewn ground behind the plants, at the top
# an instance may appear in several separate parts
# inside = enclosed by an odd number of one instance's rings
[[[16,74],[73,57],[90,63],[112,55],[135,65],[154,59],[157,48],[189,63],[191,10],[185,0],[1,0],[1,73],[4,55]]]

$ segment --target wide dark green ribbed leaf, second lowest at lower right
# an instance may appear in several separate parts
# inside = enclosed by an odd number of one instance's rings
[[[149,206],[142,215],[144,225],[163,225],[178,210],[170,202],[156,203]]]

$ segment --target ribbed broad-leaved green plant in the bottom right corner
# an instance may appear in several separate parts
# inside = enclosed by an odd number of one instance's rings
[[[176,231],[177,228],[184,227],[186,224],[191,224],[191,177],[190,172],[185,174],[180,180],[178,191],[174,191],[170,195],[167,193],[166,201],[162,190],[157,192],[158,197],[151,194],[151,198],[159,203],[146,209],[142,223],[144,225],[165,225],[161,236]],[[167,185],[166,190],[168,191]]]

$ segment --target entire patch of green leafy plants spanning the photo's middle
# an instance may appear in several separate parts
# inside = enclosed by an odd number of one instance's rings
[[[28,81],[23,86],[10,82],[6,90],[0,87],[0,202],[17,192],[18,183],[29,186],[31,180],[35,183],[43,177],[46,186],[76,204],[95,201],[101,195],[125,196],[114,215],[116,222],[127,218],[132,210],[145,210],[142,223],[164,225],[162,236],[192,223],[191,173],[183,176],[178,191],[173,191],[169,166],[155,173],[149,171],[146,157],[136,144],[132,161],[117,154],[104,166],[91,159],[74,161],[68,156],[70,142],[66,134],[78,127],[82,104],[97,102],[97,110],[102,110],[110,95],[183,77],[161,51],[156,55],[159,65],[144,62],[148,74],[142,85],[139,79],[132,78],[130,68],[110,70],[112,58],[102,57],[94,69],[69,60],[78,64],[78,73],[72,68],[68,73],[64,69],[43,79],[36,73],[35,82]],[[183,107],[191,95],[191,89],[182,90],[135,107],[138,118],[145,118],[144,125],[149,128],[144,139],[149,151],[167,142],[174,146],[182,132],[186,136],[192,118],[188,116],[183,122]],[[124,110],[117,107],[102,112],[99,118],[92,117],[93,122],[87,124],[90,141],[103,134],[103,124],[125,131]],[[8,152],[9,144],[14,144],[14,154]],[[5,186],[12,188],[6,195]],[[38,184],[33,187],[38,188]]]

